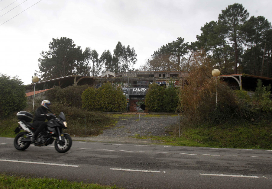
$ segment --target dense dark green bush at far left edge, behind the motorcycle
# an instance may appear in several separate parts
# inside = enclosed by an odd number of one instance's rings
[[[0,75],[0,117],[21,111],[26,105],[27,98],[21,79]]]

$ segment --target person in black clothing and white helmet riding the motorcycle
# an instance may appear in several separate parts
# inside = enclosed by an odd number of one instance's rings
[[[37,127],[36,131],[34,132],[34,136],[31,137],[31,142],[34,143],[38,134],[44,129],[46,126],[46,114],[48,114],[48,108],[50,106],[49,100],[43,100],[41,102],[41,106],[35,110],[35,117],[33,119],[33,125]]]

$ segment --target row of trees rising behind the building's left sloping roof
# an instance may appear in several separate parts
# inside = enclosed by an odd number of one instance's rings
[[[40,53],[38,59],[38,75],[41,80],[64,77],[66,75],[85,75],[97,77],[101,73],[111,71],[115,73],[133,71],[137,61],[134,48],[122,45],[119,41],[113,50],[109,50],[99,57],[95,49],[87,47],[82,51],[74,41],[67,37],[53,38],[49,43],[49,50]]]

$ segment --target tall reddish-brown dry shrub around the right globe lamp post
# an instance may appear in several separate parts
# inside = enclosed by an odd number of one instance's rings
[[[205,123],[214,117],[222,117],[224,112],[233,114],[235,111],[237,100],[234,93],[225,83],[220,82],[219,78],[216,84],[215,78],[212,77],[213,69],[214,64],[203,51],[193,54],[189,77],[186,85],[180,87],[179,93],[178,110],[184,113],[183,125],[186,127]]]

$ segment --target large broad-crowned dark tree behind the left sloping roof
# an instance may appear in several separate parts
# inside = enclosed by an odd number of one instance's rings
[[[82,50],[74,44],[72,39],[66,37],[53,38],[49,43],[49,50],[42,51],[38,59],[38,75],[41,80],[63,77],[73,74],[76,62],[81,61]]]

